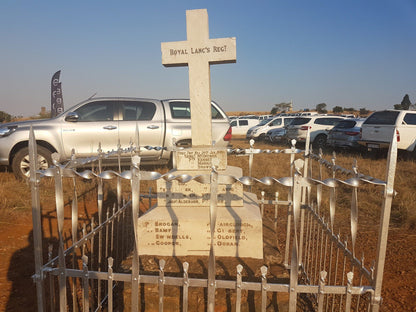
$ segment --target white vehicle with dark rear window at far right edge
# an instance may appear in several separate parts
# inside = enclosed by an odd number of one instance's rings
[[[384,110],[372,113],[361,126],[359,143],[370,150],[386,149],[397,135],[397,148],[416,153],[416,111]]]

